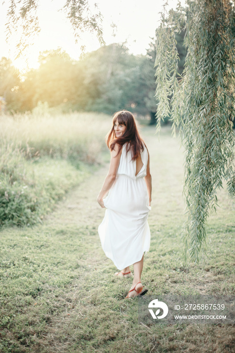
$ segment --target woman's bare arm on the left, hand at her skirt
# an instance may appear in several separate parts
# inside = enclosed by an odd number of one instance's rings
[[[107,176],[104,180],[103,186],[97,197],[97,202],[102,208],[104,208],[103,198],[106,196],[111,186],[115,182],[116,173],[118,172],[118,168],[119,168],[121,154],[122,154],[122,149],[119,152],[119,145],[115,144],[114,149],[111,151],[111,159],[110,159]]]

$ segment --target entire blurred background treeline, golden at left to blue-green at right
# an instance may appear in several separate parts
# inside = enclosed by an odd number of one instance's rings
[[[156,31],[157,33],[157,31]],[[186,51],[182,32],[180,71],[183,71]],[[20,76],[11,61],[0,61],[0,97],[8,111],[32,111],[45,103],[49,107],[68,111],[97,111],[111,114],[128,109],[150,115],[155,122],[155,57],[152,38],[146,55],[129,53],[124,44],[113,43],[85,54],[78,61],[61,48],[40,53],[39,68]],[[2,102],[3,107],[3,102]]]

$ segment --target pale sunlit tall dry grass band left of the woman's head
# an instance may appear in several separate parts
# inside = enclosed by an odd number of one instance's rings
[[[0,116],[0,146],[19,148],[25,157],[50,156],[95,163],[111,119],[105,114],[15,114]]]

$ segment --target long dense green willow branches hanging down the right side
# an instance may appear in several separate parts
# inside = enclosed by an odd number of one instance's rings
[[[179,79],[175,34],[185,25],[185,69]],[[186,251],[199,260],[206,220],[217,205],[216,190],[227,182],[235,195],[234,66],[235,8],[229,0],[187,1],[162,15],[157,31],[156,96],[158,124],[171,116],[186,149],[184,193],[188,218]]]

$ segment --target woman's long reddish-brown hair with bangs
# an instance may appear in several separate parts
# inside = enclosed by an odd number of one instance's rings
[[[114,124],[116,120],[118,120],[120,125],[125,125],[127,128],[123,136],[119,138],[115,137]],[[107,135],[107,146],[112,151],[115,144],[118,143],[120,152],[126,142],[128,142],[127,152],[131,149],[132,160],[136,160],[140,151],[144,149],[144,141],[140,137],[133,114],[128,110],[121,110],[116,112],[113,116],[112,129]]]

